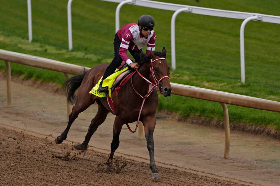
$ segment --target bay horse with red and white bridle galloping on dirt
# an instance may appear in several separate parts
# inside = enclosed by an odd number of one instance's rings
[[[116,95],[116,91],[113,91],[112,100],[115,107],[116,117],[113,126],[111,153],[107,160],[107,165],[110,164],[109,160],[113,159],[115,150],[117,150],[119,146],[119,135],[123,124],[135,122],[139,118],[139,121],[141,121],[145,127],[144,130],[147,140],[147,148],[150,154],[150,169],[152,170],[151,175],[153,178],[159,179],[159,174],[157,172],[154,159],[153,140],[153,132],[156,124],[155,113],[158,105],[158,95],[157,91],[154,90],[147,97],[147,87],[149,87],[147,80],[153,84],[153,89],[157,87],[160,93],[165,97],[171,95],[172,89],[169,80],[170,67],[165,57],[166,50],[164,47],[162,52],[153,52],[151,50],[150,54],[147,56],[143,54],[142,50],[135,52],[134,58],[140,66],[138,71],[139,73],[135,73],[131,77],[131,82],[128,81],[123,85],[123,87],[121,87],[121,89],[118,90],[118,95]],[[72,104],[75,103],[76,100],[76,103],[72,108],[71,114],[69,115],[69,121],[66,129],[55,139],[56,144],[61,144],[63,140],[66,140],[71,124],[78,117],[79,113],[85,111],[90,105],[96,102],[98,105],[98,111],[95,117],[91,120],[85,140],[82,144],[75,145],[76,149],[85,150],[91,136],[97,130],[98,126],[105,121],[107,114],[109,112],[113,113],[106,98],[89,94],[89,91],[96,85],[101,76],[104,74],[107,66],[107,64],[94,66],[89,71],[85,71],[83,74],[73,76],[65,81],[64,87],[67,90],[67,99]],[[140,74],[143,75],[144,78],[141,77]],[[79,87],[80,89],[76,97],[75,90]],[[145,104],[143,99],[145,99]],[[139,111],[141,110],[141,105],[143,109],[140,115]]]

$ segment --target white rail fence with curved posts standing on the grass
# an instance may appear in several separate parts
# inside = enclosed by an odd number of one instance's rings
[[[67,19],[68,19],[68,48],[73,50],[73,39],[72,39],[72,16],[71,16],[71,5],[73,0],[69,0],[67,4]],[[244,19],[240,28],[240,68],[241,68],[241,82],[245,83],[245,52],[244,52],[244,28],[245,25],[251,21],[262,21],[267,23],[277,23],[280,24],[280,16],[265,15],[259,13],[248,13],[248,12],[238,12],[238,11],[228,11],[220,9],[210,9],[203,7],[195,7],[188,5],[179,5],[173,3],[164,3],[158,1],[149,0],[101,0],[109,1],[114,3],[119,3],[116,8],[115,13],[115,32],[119,30],[119,13],[120,9],[125,4],[137,5],[142,7],[156,8],[162,10],[175,11],[171,19],[171,64],[172,69],[176,69],[176,54],[175,54],[175,20],[179,13],[193,13],[200,15],[209,15],[216,17],[225,17],[233,19]],[[27,0],[28,6],[28,30],[29,30],[29,42],[32,41],[32,21],[31,21],[31,0]]]

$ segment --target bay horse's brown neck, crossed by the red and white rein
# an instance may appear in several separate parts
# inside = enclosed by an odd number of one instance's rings
[[[139,68],[139,72],[148,80],[151,81],[151,77],[150,77],[150,67],[151,67],[151,63],[147,62],[145,63],[143,66],[141,66],[141,68]],[[132,78],[132,82],[133,82],[133,86],[135,88],[135,90],[141,94],[141,95],[145,95],[147,93],[147,81],[145,79],[143,79],[138,73],[135,73],[135,75]]]

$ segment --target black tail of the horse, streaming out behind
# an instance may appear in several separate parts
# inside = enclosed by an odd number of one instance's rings
[[[63,89],[66,90],[67,100],[72,105],[74,105],[74,103],[77,100],[75,91],[81,86],[82,81],[83,81],[87,71],[88,70],[84,69],[82,74],[75,75],[75,76],[67,79],[63,84]]]

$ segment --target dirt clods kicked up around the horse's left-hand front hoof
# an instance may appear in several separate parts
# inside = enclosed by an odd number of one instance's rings
[[[103,173],[117,173],[119,174],[121,172],[121,169],[127,166],[127,161],[120,156],[116,156],[113,160],[109,160],[107,163],[98,163],[97,164],[97,172],[103,172]]]

